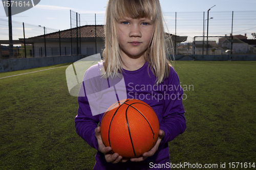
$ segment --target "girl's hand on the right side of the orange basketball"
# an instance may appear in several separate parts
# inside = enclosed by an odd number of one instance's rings
[[[141,157],[132,158],[130,160],[133,161],[133,162],[140,162],[140,161],[145,160],[147,157],[153,156],[157,152],[159,144],[160,144],[163,136],[164,136],[164,131],[163,130],[159,130],[159,136],[158,136],[157,142],[154,145],[154,147],[150,151],[145,152]]]

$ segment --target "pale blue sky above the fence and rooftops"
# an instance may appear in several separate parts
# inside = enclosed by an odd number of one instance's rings
[[[160,0],[163,13],[168,12],[210,12],[217,11],[255,11],[256,0]],[[83,16],[81,21],[87,22],[87,14],[104,16],[106,0],[41,0],[35,7],[12,16],[13,21],[25,22],[35,26],[53,30],[70,29],[70,10]],[[93,17],[92,17],[93,18]],[[0,19],[6,17],[3,4],[0,2]],[[93,18],[94,19],[94,18]],[[0,22],[3,22],[0,20]],[[256,27],[256,25],[255,25]],[[1,29],[1,28],[0,28]],[[1,30],[0,30],[1,31]],[[1,34],[0,34],[1,36]],[[192,36],[192,35],[191,35]],[[248,37],[249,38],[249,37]],[[0,37],[1,39],[1,37]]]

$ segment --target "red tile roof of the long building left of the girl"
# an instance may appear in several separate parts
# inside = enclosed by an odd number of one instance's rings
[[[60,31],[60,38],[71,38],[71,34],[72,34],[72,38],[76,38],[77,32],[78,32],[78,37],[80,37],[80,32],[81,32],[81,38],[94,38],[95,25],[81,26],[78,28]],[[105,37],[104,25],[96,25],[96,37]],[[39,35],[31,38],[44,38],[44,35]],[[59,38],[59,32],[46,34],[46,38]]]

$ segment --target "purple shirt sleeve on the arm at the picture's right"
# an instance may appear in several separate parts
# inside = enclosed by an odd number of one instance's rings
[[[161,143],[172,141],[176,136],[183,133],[186,129],[184,117],[184,107],[182,104],[183,89],[180,86],[179,77],[173,67],[170,67],[170,75],[167,79],[169,99],[165,100],[163,111],[163,123],[159,128],[164,131]]]

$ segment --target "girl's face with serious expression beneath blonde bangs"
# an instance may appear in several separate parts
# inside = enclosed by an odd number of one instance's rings
[[[125,17],[117,21],[122,57],[140,58],[151,42],[154,22],[147,18]]]

